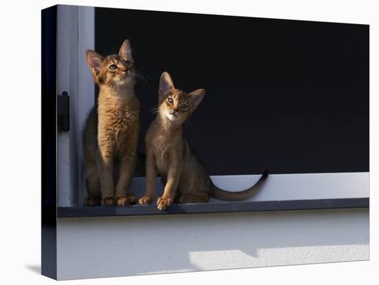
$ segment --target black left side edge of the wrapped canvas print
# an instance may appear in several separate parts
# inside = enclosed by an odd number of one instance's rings
[[[57,6],[41,11],[41,274],[57,279]]]

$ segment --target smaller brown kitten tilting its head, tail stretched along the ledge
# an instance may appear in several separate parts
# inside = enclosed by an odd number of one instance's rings
[[[154,200],[154,178],[157,173],[167,181],[163,196],[158,198],[158,209],[172,202],[208,202],[213,196],[220,200],[239,201],[254,195],[267,178],[265,171],[253,187],[240,192],[229,192],[216,187],[205,167],[189,147],[182,124],[204,98],[205,90],[185,93],[176,89],[170,74],[163,72],[159,83],[158,114],[147,130],[146,194],[139,204]]]

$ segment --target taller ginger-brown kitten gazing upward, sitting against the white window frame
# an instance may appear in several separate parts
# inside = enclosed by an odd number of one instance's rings
[[[88,50],[87,63],[99,85],[99,99],[83,137],[88,189],[85,205],[125,206],[135,200],[127,190],[139,138],[139,101],[134,94],[136,70],[130,43],[125,40],[119,54],[106,57]],[[114,187],[116,163],[119,169]]]

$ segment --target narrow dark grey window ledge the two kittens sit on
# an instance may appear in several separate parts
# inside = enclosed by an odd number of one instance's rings
[[[127,207],[58,207],[58,218],[112,217],[126,215],[170,215],[183,213],[230,213],[258,211],[294,211],[321,209],[368,208],[369,198],[341,198],[317,200],[281,200],[255,202],[207,202],[172,204],[165,211],[156,204]]]

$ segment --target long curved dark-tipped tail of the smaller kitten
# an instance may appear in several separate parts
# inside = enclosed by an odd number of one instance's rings
[[[218,188],[215,184],[211,184],[211,196],[220,199],[223,201],[242,201],[247,198],[250,198],[254,196],[263,186],[263,182],[265,182],[267,176],[269,176],[269,171],[265,170],[263,172],[262,176],[260,176],[259,180],[254,184],[252,187],[245,189],[243,191],[238,192],[229,192],[226,190],[223,190],[221,188]]]

